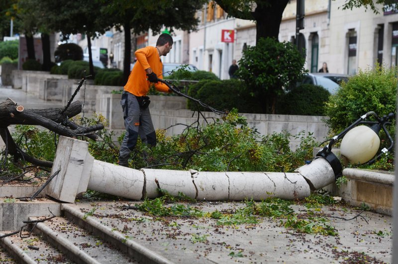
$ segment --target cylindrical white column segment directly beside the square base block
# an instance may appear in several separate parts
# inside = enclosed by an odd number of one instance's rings
[[[88,189],[139,200],[142,197],[143,188],[142,171],[94,160]]]

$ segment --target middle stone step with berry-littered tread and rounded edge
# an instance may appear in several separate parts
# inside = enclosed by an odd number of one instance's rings
[[[30,217],[30,220],[38,218]],[[127,254],[64,217],[37,223],[35,232],[76,263],[136,263]]]

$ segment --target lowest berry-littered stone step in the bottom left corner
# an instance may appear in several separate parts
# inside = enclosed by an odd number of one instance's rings
[[[12,231],[1,231],[0,235],[11,232]],[[8,252],[8,255],[15,260],[15,263],[73,263],[69,261],[63,253],[37,234],[31,234],[27,238],[20,238],[19,234],[5,237],[0,239],[0,246]],[[29,248],[28,246],[34,248]],[[13,262],[10,259],[8,263]]]

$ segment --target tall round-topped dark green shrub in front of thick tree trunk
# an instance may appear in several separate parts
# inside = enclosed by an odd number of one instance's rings
[[[290,87],[301,80],[306,71],[304,62],[292,43],[260,38],[256,46],[243,51],[235,75],[245,81],[247,93],[257,99],[263,113],[274,113],[282,87]]]

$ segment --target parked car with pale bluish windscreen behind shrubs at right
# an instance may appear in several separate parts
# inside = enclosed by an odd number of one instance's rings
[[[319,85],[324,87],[331,94],[335,94],[342,81],[348,81],[348,75],[314,72],[306,74],[304,79],[298,84]]]

